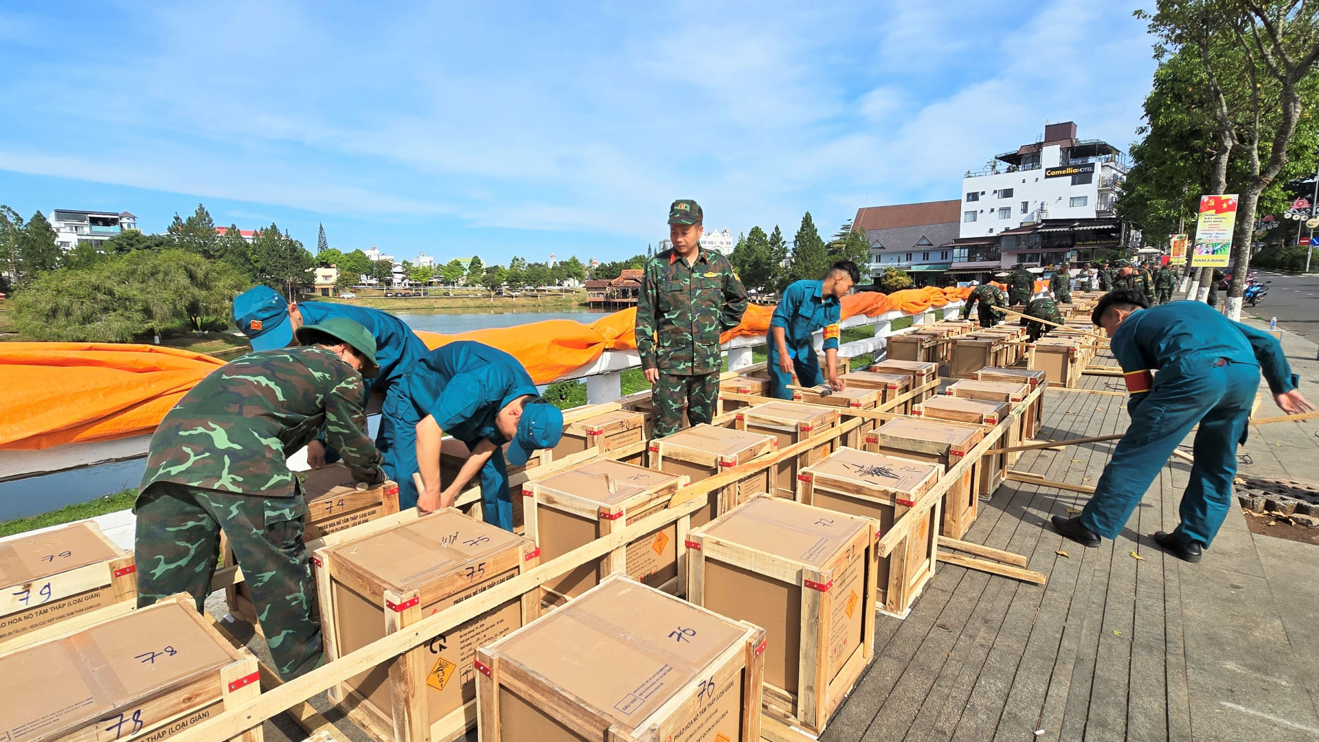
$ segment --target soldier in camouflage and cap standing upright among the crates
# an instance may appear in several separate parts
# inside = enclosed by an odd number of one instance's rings
[[[700,250],[702,211],[681,198],[669,207],[673,248],[646,261],[637,298],[637,354],[653,384],[654,436],[678,432],[682,411],[710,422],[723,360],[719,335],[741,322],[747,289],[718,252]]]

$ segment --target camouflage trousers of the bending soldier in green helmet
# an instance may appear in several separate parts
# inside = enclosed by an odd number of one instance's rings
[[[307,503],[156,482],[137,495],[137,607],[189,593],[206,613],[220,529],[252,590],[261,630],[285,680],[322,661],[315,582],[302,543]]]

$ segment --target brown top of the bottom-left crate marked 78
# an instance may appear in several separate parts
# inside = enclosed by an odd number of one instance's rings
[[[63,731],[100,722],[95,738],[115,739],[113,727],[108,735],[102,727],[115,721],[116,713],[132,713],[135,704],[233,659],[233,650],[207,632],[195,611],[175,601],[16,650],[0,656],[3,738],[59,739]],[[215,683],[218,692],[218,676]],[[128,724],[120,730],[124,738],[131,729]]]

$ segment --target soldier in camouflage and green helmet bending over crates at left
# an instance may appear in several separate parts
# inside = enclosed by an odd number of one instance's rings
[[[307,503],[285,459],[323,428],[355,478],[384,481],[363,412],[363,374],[380,371],[375,339],[343,318],[301,327],[298,339],[310,345],[244,355],[183,395],[152,436],[135,506],[137,606],[190,593],[204,610],[223,529],[286,679],[322,651]]]

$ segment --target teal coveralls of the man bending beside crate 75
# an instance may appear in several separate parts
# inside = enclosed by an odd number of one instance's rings
[[[539,396],[536,382],[512,355],[475,341],[458,341],[441,346],[413,366],[400,382],[400,393],[385,399],[381,411],[394,420],[394,437],[389,441],[401,477],[412,479],[417,467],[417,422],[427,415],[447,436],[467,444],[488,440],[504,445],[506,438],[495,425],[499,411],[522,395]],[[406,471],[406,474],[402,474]],[[505,531],[513,529],[513,502],[508,491],[504,452],[496,449],[480,470],[481,512],[485,523]],[[405,498],[398,491],[398,507],[417,504],[418,492]]]

